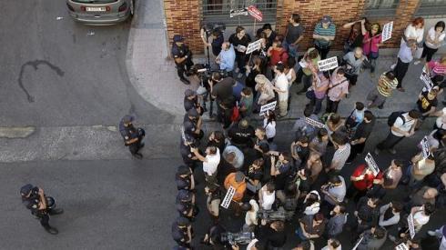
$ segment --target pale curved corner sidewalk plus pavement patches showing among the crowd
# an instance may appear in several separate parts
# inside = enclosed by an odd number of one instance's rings
[[[190,77],[191,85],[184,85],[177,77],[175,64],[169,59],[170,49],[167,47],[163,2],[155,0],[151,1],[150,5],[146,1],[137,3],[137,14],[132,23],[127,47],[126,63],[130,81],[147,102],[176,115],[179,122],[184,115],[184,91],[187,88],[197,89],[198,78],[192,76]],[[367,105],[366,96],[376,86],[380,74],[389,70],[390,65],[394,64],[396,55],[386,55],[394,51],[394,49],[382,50],[374,78],[370,77],[368,70],[360,74],[358,84],[351,89],[350,98],[340,103],[340,115],[349,115],[355,102],[360,101]],[[204,62],[204,60],[203,57],[195,56],[194,58],[195,63]],[[403,81],[406,92],[394,91],[383,109],[375,108],[372,112],[377,116],[385,117],[393,111],[410,110],[414,107],[423,86],[420,80],[422,66],[422,64],[410,66]],[[291,108],[286,119],[301,116],[305,104],[308,103],[305,95],[296,95],[301,87],[302,85],[291,87]],[[439,101],[441,100],[442,96],[439,98]],[[325,108],[325,102],[322,108]]]

